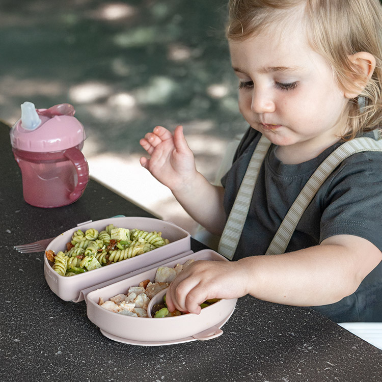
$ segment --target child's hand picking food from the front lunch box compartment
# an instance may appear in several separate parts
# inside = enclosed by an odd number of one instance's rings
[[[171,283],[166,304],[170,312],[199,314],[200,304],[210,298],[237,298],[247,294],[247,271],[240,262],[195,261]]]

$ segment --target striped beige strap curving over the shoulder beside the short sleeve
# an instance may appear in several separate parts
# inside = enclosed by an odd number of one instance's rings
[[[265,253],[266,255],[282,254],[285,252],[301,216],[322,183],[344,159],[363,151],[382,151],[382,140],[375,141],[372,138],[356,138],[345,142],[321,163],[285,215],[275,237],[269,244],[268,250]]]

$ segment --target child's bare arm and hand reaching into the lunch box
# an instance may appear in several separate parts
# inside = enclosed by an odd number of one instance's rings
[[[176,307],[199,313],[206,299],[249,293],[279,304],[332,304],[356,291],[381,260],[382,253],[368,240],[337,235],[315,247],[282,255],[196,261],[170,285],[166,303],[170,311]]]

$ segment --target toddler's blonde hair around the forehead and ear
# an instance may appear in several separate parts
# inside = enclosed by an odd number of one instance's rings
[[[349,140],[382,125],[382,5],[379,0],[230,0],[226,35],[242,41],[286,16],[285,11],[305,4],[308,41],[333,68],[345,91],[364,81],[349,60],[366,51],[376,60],[372,77],[359,96],[348,103]],[[290,16],[290,12],[288,12]]]

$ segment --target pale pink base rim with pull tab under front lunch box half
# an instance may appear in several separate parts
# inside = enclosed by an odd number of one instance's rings
[[[163,341],[163,342],[135,341],[135,340],[129,340],[128,338],[115,336],[114,334],[107,333],[106,331],[102,329],[100,329],[100,332],[110,340],[126,343],[129,345],[137,345],[137,346],[163,346],[163,345],[176,345],[178,343],[185,343],[185,342],[191,342],[191,341],[197,341],[197,340],[207,341],[207,340],[211,340],[213,338],[219,337],[223,334],[223,331],[220,328],[222,328],[222,326],[230,319],[234,310],[235,308],[232,309],[232,311],[227,315],[226,318],[224,318],[223,321],[219,322],[215,326],[212,326],[212,328],[209,328],[201,333],[194,334],[193,336],[180,338],[180,339],[172,340],[172,341]]]

